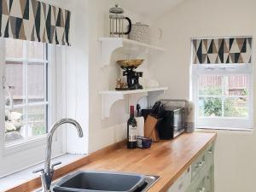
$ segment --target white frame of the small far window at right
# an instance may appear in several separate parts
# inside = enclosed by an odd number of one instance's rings
[[[246,74],[249,77],[247,118],[222,118],[222,117],[199,117],[198,105],[198,77],[200,75],[232,75]],[[253,130],[253,67],[252,64],[191,64],[192,87],[190,89],[192,100],[195,102],[195,125],[204,129],[224,130]],[[229,97],[229,96],[226,96]],[[234,96],[230,96],[234,97]]]

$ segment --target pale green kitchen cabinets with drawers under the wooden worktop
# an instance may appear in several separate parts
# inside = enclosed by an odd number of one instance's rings
[[[167,192],[214,192],[214,144],[183,172]]]

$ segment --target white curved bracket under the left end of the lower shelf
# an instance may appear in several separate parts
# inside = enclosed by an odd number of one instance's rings
[[[122,94],[102,95],[102,119],[105,119],[110,116],[110,111],[114,102],[117,102],[123,99],[124,99],[124,95]]]

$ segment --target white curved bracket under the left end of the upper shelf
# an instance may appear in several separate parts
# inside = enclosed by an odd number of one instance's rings
[[[110,65],[111,55],[115,49],[123,47],[122,38],[116,38],[115,41],[102,40],[101,44],[101,64],[103,66]]]

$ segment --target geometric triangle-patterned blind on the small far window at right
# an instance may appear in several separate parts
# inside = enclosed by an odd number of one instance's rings
[[[193,39],[193,64],[252,63],[252,38]]]

